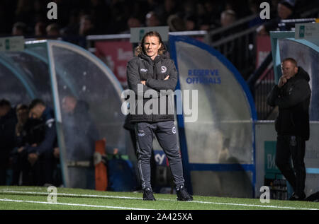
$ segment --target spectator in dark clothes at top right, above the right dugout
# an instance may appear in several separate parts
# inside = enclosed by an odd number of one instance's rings
[[[299,18],[300,16],[295,13],[295,3],[293,0],[283,0],[279,1],[277,6],[277,17],[265,23],[264,25],[257,28],[257,33],[259,35],[269,35],[269,31],[279,30],[278,23],[281,20],[289,20],[292,18]],[[294,27],[294,24],[286,26],[284,30],[290,30],[291,27]]]

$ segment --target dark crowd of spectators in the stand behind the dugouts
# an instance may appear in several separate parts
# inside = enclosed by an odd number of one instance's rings
[[[57,20],[47,19],[47,3]],[[43,37],[129,33],[130,28],[169,25],[170,31],[212,30],[259,13],[261,0],[3,0],[0,35]],[[269,1],[272,9],[279,0]]]

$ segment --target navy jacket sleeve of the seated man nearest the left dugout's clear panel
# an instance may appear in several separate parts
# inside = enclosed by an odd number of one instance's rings
[[[52,150],[56,141],[56,137],[57,132],[55,129],[55,122],[46,124],[44,140],[38,146],[27,146],[28,153],[38,153],[39,155],[41,155],[46,151]]]

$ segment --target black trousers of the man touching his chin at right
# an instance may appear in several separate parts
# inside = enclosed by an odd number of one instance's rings
[[[305,151],[306,142],[300,136],[277,136],[276,166],[298,196],[305,196]]]

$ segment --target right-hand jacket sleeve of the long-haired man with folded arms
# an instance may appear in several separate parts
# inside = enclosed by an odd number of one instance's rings
[[[157,91],[160,91],[160,90],[174,91],[177,84],[177,70],[174,65],[174,61],[172,60],[169,60],[169,64],[167,66],[167,75],[169,75],[169,78],[167,80],[158,80],[158,79],[148,78],[146,81],[146,85]]]

